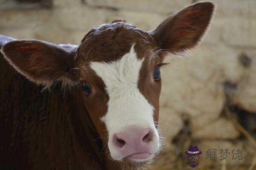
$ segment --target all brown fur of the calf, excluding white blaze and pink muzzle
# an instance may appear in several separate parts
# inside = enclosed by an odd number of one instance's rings
[[[213,11],[212,3],[195,3],[149,32],[114,20],[92,28],[77,48],[0,37],[1,50],[10,64],[0,56],[5,70],[0,78],[6,80],[0,83],[0,132],[4,136],[0,160],[4,167],[132,169],[128,160],[109,159],[108,147],[103,147],[108,143],[108,132],[99,118],[107,112],[109,98],[90,62],[115,61],[135,44],[137,56],[145,59],[138,88],[154,106],[157,126],[161,80],[152,78],[154,68],[162,65],[166,52],[195,47],[207,31]],[[61,82],[66,82],[70,91],[63,91]],[[90,84],[91,94],[84,94],[82,82]],[[42,84],[51,91],[42,92]]]

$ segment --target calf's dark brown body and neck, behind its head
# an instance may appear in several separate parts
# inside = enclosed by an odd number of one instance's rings
[[[106,169],[81,91],[63,92],[60,83],[42,91],[42,85],[15,71],[2,54],[0,68],[1,170]]]

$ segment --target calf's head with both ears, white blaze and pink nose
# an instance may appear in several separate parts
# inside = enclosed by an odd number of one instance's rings
[[[153,31],[121,20],[92,28],[73,48],[38,40],[3,46],[9,63],[46,86],[61,80],[79,89],[83,103],[113,160],[127,164],[154,158],[160,67],[168,53],[194,48],[209,27],[214,5],[195,3],[169,16]]]

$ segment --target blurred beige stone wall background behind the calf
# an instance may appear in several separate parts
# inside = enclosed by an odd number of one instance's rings
[[[190,145],[202,152],[195,169],[256,169],[256,0],[211,1],[217,10],[204,41],[188,55],[170,56],[162,69],[159,120],[166,143],[151,170],[192,169],[184,154]],[[0,0],[0,34],[79,44],[90,28],[115,19],[150,31],[195,2]]]

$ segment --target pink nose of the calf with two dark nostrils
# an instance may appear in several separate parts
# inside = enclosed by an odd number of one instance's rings
[[[131,156],[146,159],[151,155],[148,153],[148,148],[152,137],[150,128],[132,128],[125,130],[125,132],[116,133],[113,136],[113,144],[123,157]]]

